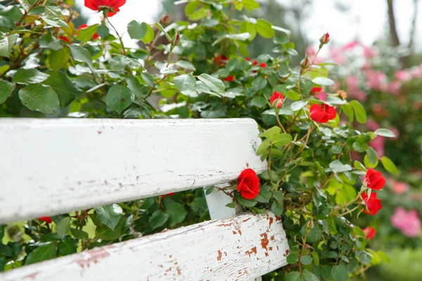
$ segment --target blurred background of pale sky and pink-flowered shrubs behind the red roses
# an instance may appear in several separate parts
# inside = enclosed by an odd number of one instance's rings
[[[75,0],[81,13],[76,24],[101,21],[100,15]],[[371,118],[365,125],[371,131],[388,128],[395,138],[376,138],[371,146],[378,157],[388,156],[399,169],[388,178],[385,192],[379,192],[383,209],[377,216],[360,216],[354,223],[376,230],[370,247],[385,251],[390,263],[380,263],[367,273],[367,280],[422,280],[422,1],[420,0],[260,0],[253,16],[291,30],[290,39],[299,55],[314,55],[319,37],[331,35],[328,48],[316,59],[335,63],[331,78],[335,86],[359,100]],[[120,34],[131,20],[155,22],[170,14],[184,18],[184,5],[174,0],[127,0],[111,22]],[[235,17],[236,18],[236,17]],[[138,42],[124,34],[127,46]],[[256,39],[248,50],[250,57],[271,53],[271,40]],[[324,92],[320,94],[324,98]],[[368,159],[355,159],[371,167]],[[381,169],[378,166],[377,169]]]

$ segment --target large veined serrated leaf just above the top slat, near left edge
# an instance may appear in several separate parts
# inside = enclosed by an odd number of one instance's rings
[[[19,98],[30,110],[56,115],[58,97],[50,86],[32,84],[19,90]]]

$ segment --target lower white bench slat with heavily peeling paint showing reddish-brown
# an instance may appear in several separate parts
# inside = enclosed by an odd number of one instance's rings
[[[241,214],[44,261],[0,280],[250,280],[285,266],[274,214]]]

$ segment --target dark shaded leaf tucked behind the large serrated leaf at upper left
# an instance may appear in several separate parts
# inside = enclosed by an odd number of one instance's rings
[[[51,88],[57,93],[60,106],[68,106],[78,94],[83,92],[77,88],[66,74],[62,72],[53,72],[50,74],[49,79],[44,81],[44,84],[51,86]]]

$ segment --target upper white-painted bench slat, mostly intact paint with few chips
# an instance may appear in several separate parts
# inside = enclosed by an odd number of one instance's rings
[[[0,224],[259,174],[258,133],[252,119],[0,119]]]

